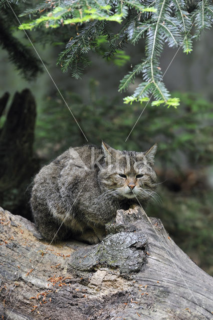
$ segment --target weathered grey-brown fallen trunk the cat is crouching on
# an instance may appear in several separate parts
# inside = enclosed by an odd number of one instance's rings
[[[118,210],[97,245],[48,244],[27,219],[0,217],[1,318],[213,318],[213,278],[138,206]]]

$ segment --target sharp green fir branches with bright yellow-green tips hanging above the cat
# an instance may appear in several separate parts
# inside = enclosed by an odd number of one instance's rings
[[[66,27],[70,28],[72,35],[58,64],[63,71],[71,69],[75,78],[80,78],[84,68],[90,65],[89,51],[96,51],[108,59],[115,56],[114,62],[123,65],[128,60],[123,50],[125,44],[136,45],[145,37],[145,58],[124,75],[119,91],[126,90],[136,75],[142,80],[124,102],[142,103],[147,101],[144,98],[150,97],[154,100],[152,105],[177,107],[179,100],[171,98],[162,81],[160,55],[165,43],[170,47],[182,46],[183,52],[190,53],[192,38],[212,24],[213,6],[211,0],[195,3],[184,0],[60,0],[40,2],[36,7],[24,10],[20,17],[23,22],[20,28],[29,30],[54,28],[54,34],[56,28],[66,31]],[[113,22],[119,22],[120,26],[116,27]],[[102,49],[101,37],[106,40]]]

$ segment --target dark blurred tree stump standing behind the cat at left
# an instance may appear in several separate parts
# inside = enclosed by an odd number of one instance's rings
[[[0,116],[9,98],[0,99]],[[33,153],[36,102],[29,89],[16,92],[0,131],[0,203],[14,213],[27,210],[26,189],[38,170],[38,159]]]

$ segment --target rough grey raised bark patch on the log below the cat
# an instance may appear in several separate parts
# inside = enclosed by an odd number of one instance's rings
[[[121,273],[137,272],[145,261],[147,238],[141,232],[118,232],[107,235],[95,247],[72,254],[70,267],[93,270],[97,265],[118,268]],[[140,249],[140,250],[139,250]]]

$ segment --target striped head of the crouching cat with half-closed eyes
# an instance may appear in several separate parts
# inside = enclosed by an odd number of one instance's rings
[[[149,199],[156,188],[153,169],[157,144],[145,152],[120,151],[102,142],[105,165],[100,170],[102,184],[116,197]]]

